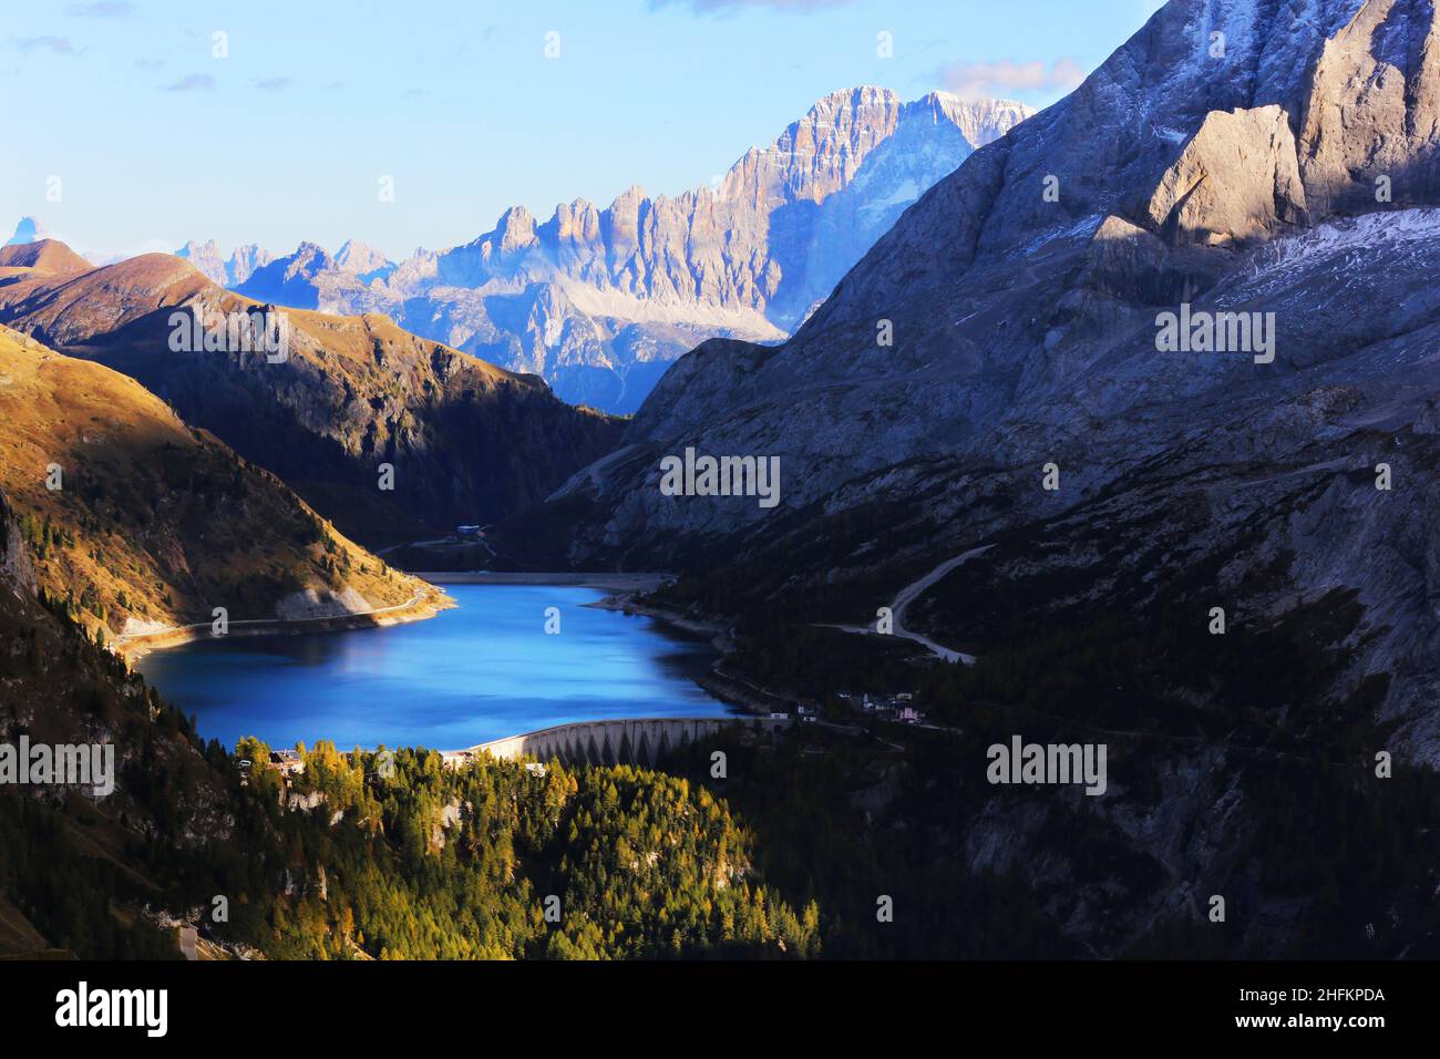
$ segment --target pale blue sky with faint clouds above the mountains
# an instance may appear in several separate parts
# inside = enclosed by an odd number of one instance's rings
[[[353,236],[406,255],[472,239],[516,203],[547,218],[632,183],[704,184],[858,84],[1045,105],[1159,4],[6,3],[0,226],[33,213],[89,252]]]

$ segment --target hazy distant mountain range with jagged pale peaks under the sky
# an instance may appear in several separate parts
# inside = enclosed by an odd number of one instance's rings
[[[179,254],[246,297],[402,327],[557,395],[634,412],[677,356],[708,337],[782,340],[936,180],[1030,114],[943,92],[904,102],[861,86],[821,99],[723,180],[677,199],[632,187],[544,222],[523,206],[446,251],[387,261],[350,241],[271,258],[213,242]]]

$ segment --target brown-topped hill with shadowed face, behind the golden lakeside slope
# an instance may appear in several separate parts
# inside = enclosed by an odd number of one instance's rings
[[[262,307],[168,255],[6,272],[0,321],[137,379],[367,545],[539,503],[624,428],[566,405],[536,376],[418,339],[383,316],[284,310],[279,363],[252,352],[173,352],[177,308]],[[393,490],[377,488],[382,464],[395,468]]]

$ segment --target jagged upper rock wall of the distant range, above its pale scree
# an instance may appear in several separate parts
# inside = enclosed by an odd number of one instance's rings
[[[1025,114],[1018,104],[945,95],[904,104],[878,88],[837,92],[747,151],[717,187],[678,199],[632,187],[608,209],[582,199],[540,225],[513,209],[495,231],[441,255],[439,278],[482,287],[559,272],[600,292],[753,314],[757,329],[789,330],[814,291],[828,292],[842,274],[827,262],[857,259],[897,207]],[[828,203],[857,180],[864,193],[835,203],[854,228],[829,216]],[[818,246],[822,219],[831,241]]]

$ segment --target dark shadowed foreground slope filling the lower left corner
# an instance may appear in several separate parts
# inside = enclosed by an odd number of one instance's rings
[[[0,741],[111,743],[115,791],[0,784],[0,957],[177,955],[134,913],[168,892],[167,866],[233,837],[233,807],[189,722],[40,605],[19,523],[0,490]]]

